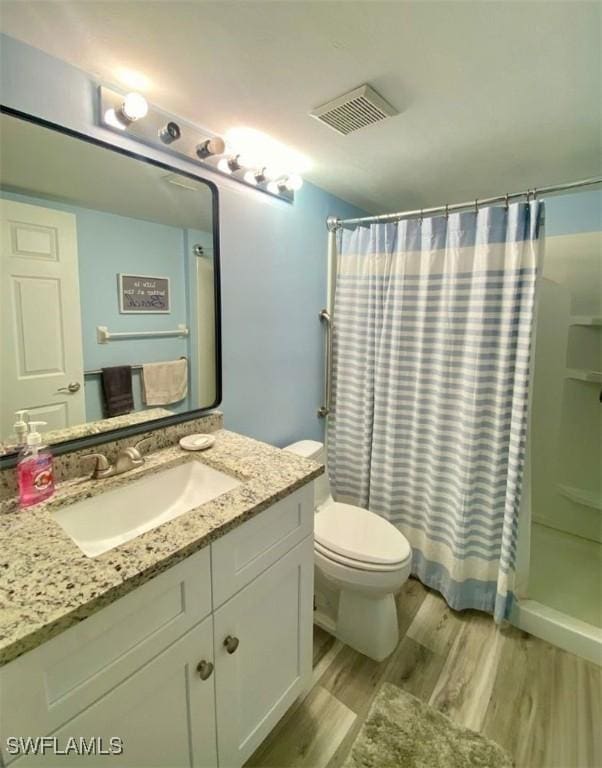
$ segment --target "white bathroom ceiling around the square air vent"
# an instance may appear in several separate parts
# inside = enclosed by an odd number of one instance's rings
[[[29,2],[5,33],[223,133],[308,155],[305,177],[370,212],[601,172],[596,2]],[[400,114],[340,136],[314,107],[370,83]],[[123,85],[123,82],[121,83]]]

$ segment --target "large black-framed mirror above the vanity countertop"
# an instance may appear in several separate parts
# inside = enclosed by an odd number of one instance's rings
[[[215,185],[2,109],[0,209],[1,456],[220,402]]]

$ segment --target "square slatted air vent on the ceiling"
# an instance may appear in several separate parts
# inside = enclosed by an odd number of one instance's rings
[[[379,123],[387,117],[398,115],[399,112],[376,93],[374,88],[369,85],[360,85],[359,88],[344,93],[338,99],[316,107],[310,114],[329,128],[346,136],[366,125]]]

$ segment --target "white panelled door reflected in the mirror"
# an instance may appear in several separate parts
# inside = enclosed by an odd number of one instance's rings
[[[48,422],[45,430],[86,419],[75,216],[0,199],[0,222],[0,440],[7,440],[16,410]]]

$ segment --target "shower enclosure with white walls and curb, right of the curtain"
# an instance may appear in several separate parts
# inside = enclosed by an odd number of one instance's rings
[[[549,210],[550,217],[553,213]],[[522,531],[523,599],[513,615],[523,629],[598,663],[602,661],[601,254],[599,231],[546,238],[531,385],[530,488],[524,500],[530,504],[531,524],[530,531]]]

